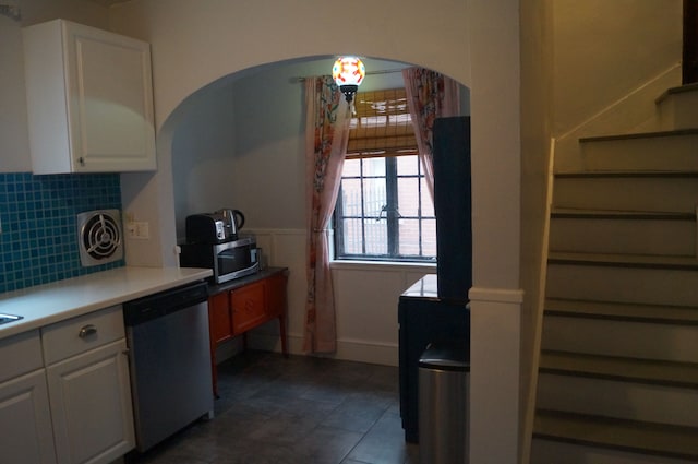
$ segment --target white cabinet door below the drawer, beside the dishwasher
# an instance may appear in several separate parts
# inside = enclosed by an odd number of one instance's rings
[[[125,340],[47,368],[58,462],[110,463],[135,445]]]

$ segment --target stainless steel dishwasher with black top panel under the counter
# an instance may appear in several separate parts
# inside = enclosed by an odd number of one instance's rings
[[[140,452],[213,418],[207,301],[200,282],[123,305]]]

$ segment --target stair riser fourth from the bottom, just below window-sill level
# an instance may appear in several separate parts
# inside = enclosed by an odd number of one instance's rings
[[[549,297],[698,306],[698,272],[612,266],[547,266]]]

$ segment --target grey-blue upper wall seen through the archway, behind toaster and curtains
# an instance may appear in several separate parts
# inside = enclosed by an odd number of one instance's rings
[[[333,59],[309,57],[229,74],[172,111],[161,136],[171,138],[179,241],[188,214],[229,206],[250,212],[256,227],[304,227],[302,78],[326,74]],[[362,90],[402,86],[400,71],[409,64],[365,61]],[[469,91],[462,90],[461,108],[469,115]],[[287,207],[277,207],[278,190]]]

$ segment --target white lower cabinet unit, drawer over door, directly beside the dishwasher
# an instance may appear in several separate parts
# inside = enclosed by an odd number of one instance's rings
[[[135,447],[121,307],[41,329],[59,464],[110,463]]]

